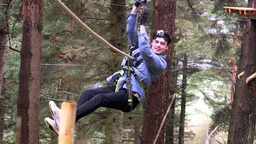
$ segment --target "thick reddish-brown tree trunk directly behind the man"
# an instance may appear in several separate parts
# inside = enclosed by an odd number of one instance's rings
[[[154,31],[159,29],[168,30],[171,37],[174,35],[174,22],[176,12],[176,0],[156,0],[155,7],[155,27]],[[168,63],[166,69],[171,68],[172,63],[172,51],[173,41],[165,52],[166,61]],[[164,73],[156,79],[153,86],[148,90],[148,103],[145,107],[143,129],[141,136],[141,143],[150,144],[153,143],[158,129],[161,126],[162,120],[167,110],[167,101],[169,96],[169,82],[170,71],[164,71]],[[156,143],[164,143],[164,129],[165,124],[161,129],[159,137]]]

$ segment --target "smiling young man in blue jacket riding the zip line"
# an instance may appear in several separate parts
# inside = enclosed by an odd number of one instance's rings
[[[134,56],[137,55],[137,59],[130,63],[130,67],[132,67],[130,71],[134,71],[130,75],[131,85],[129,85],[129,79],[127,82],[128,68],[126,57],[124,57],[121,63],[122,70],[107,78],[108,83],[116,82],[115,85],[88,89],[82,93],[77,101],[76,122],[99,107],[130,112],[143,99],[145,88],[149,88],[154,80],[164,72],[167,66],[164,52],[171,42],[170,35],[167,31],[158,30],[157,33],[153,34],[152,46],[150,46],[145,28],[148,17],[148,9],[145,6],[142,8],[140,16],[140,32],[136,28],[139,5],[140,3],[137,1],[134,3],[132,11],[126,19],[128,40],[131,45],[135,43],[135,47],[139,47],[132,51]],[[130,94],[132,98],[129,98],[129,90],[132,91]],[[132,100],[132,103],[130,100]],[[58,135],[61,110],[53,101],[49,102],[49,107],[53,120],[46,117],[44,121],[52,132]]]

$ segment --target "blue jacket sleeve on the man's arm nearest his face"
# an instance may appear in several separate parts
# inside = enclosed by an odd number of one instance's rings
[[[155,74],[157,77],[160,76],[165,68],[167,67],[167,62],[164,56],[156,55],[151,51],[151,46],[148,42],[148,35],[146,32],[138,34],[139,36],[139,49],[140,55],[145,61],[148,69]]]

